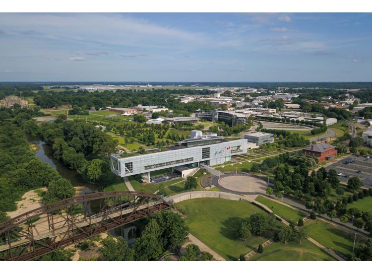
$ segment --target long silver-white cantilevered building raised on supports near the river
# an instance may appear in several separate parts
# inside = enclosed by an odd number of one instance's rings
[[[247,152],[247,139],[227,141],[222,136],[202,135],[191,131],[193,138],[180,141],[178,145],[166,147],[148,154],[112,154],[111,170],[120,177],[148,173],[171,167],[199,167],[200,164],[216,165],[231,160],[232,155]]]

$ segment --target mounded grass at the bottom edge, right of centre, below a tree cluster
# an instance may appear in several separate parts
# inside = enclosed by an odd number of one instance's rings
[[[337,261],[332,256],[304,239],[301,244],[272,243],[263,253],[252,256],[248,261]]]

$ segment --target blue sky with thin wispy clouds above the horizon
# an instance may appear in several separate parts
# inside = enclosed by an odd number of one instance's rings
[[[371,81],[372,13],[0,13],[0,81]]]

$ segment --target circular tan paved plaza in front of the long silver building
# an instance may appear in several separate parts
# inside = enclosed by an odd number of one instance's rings
[[[264,194],[266,181],[254,176],[226,176],[218,181],[219,188],[238,194]]]

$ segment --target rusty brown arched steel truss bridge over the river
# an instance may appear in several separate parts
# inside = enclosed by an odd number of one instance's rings
[[[0,223],[0,260],[32,260],[170,207],[157,195],[124,191],[44,205]]]

